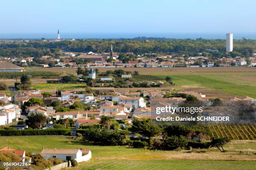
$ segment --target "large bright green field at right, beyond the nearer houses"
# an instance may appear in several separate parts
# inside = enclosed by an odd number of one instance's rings
[[[159,76],[166,77],[166,75]],[[256,74],[171,74],[169,76],[177,86],[203,86],[235,96],[256,97]]]

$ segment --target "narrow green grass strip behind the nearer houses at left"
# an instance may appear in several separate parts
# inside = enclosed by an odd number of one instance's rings
[[[33,84],[33,89],[83,89],[86,87],[84,83],[60,83],[60,84]]]

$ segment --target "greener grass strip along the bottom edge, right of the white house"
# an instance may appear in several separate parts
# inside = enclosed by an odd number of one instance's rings
[[[188,161],[188,160],[101,160],[80,165],[77,170],[252,170],[248,161]]]

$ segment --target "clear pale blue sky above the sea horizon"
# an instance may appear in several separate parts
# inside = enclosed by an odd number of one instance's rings
[[[256,33],[256,0],[4,0],[0,33]]]

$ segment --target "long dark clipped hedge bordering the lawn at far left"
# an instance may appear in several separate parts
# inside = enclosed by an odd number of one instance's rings
[[[0,130],[0,136],[69,135],[71,129]]]

